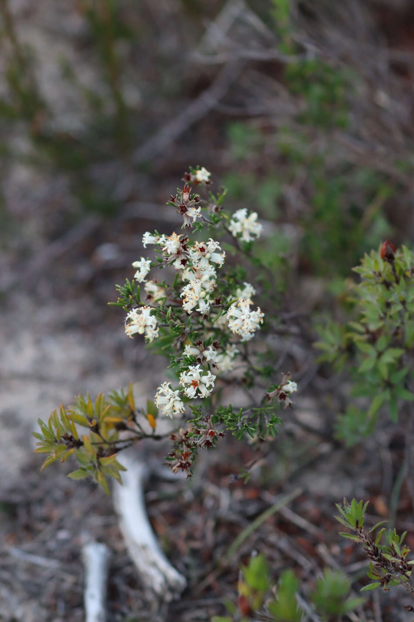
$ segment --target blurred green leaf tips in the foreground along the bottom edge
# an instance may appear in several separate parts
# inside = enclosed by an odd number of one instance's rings
[[[321,620],[349,613],[364,602],[363,598],[349,598],[350,588],[344,573],[331,569],[323,571],[322,577],[316,580],[315,590],[308,595]],[[298,592],[300,582],[293,570],[284,570],[275,586],[264,555],[251,557],[249,564],[241,568],[238,606],[228,604],[230,616],[215,616],[212,622],[249,622],[259,615],[274,622],[300,622],[305,612],[297,601]]]

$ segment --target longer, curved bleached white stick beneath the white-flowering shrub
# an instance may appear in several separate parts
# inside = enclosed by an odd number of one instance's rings
[[[165,557],[148,520],[143,496],[148,466],[136,453],[122,452],[117,460],[127,468],[122,485],[114,485],[114,507],[128,553],[146,587],[172,600],[184,590],[186,579]]]

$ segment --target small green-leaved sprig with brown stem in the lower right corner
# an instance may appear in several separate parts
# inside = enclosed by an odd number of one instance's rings
[[[413,594],[411,575],[414,560],[407,562],[406,558],[410,549],[403,545],[407,532],[405,531],[402,536],[398,536],[395,529],[387,530],[385,527],[381,527],[387,521],[377,522],[369,531],[364,532],[367,505],[368,501],[364,504],[363,501],[357,503],[356,499],[353,499],[351,503],[348,503],[344,499],[343,505],[336,504],[340,516],[335,516],[337,521],[351,531],[351,533],[340,532],[340,536],[352,542],[363,544],[367,558],[370,560],[367,575],[374,579],[374,583],[364,586],[361,592],[369,592],[377,587],[382,587],[384,591],[388,592],[391,587],[402,585],[407,592]],[[370,534],[379,527],[381,529],[376,536],[370,537]],[[381,543],[383,539],[385,539],[385,544]]]

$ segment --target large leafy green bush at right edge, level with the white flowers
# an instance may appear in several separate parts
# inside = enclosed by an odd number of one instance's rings
[[[413,377],[414,254],[402,246],[386,261],[372,251],[354,271],[361,282],[349,291],[353,321],[347,327],[331,323],[322,328],[315,343],[323,351],[320,361],[351,369],[352,396],[369,399],[366,409],[349,406],[338,419],[336,434],[349,446],[372,432],[385,407],[397,422],[403,404],[414,399],[408,388]]]

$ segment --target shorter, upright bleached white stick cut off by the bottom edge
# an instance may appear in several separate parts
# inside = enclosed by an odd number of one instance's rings
[[[110,550],[106,544],[87,542],[82,549],[85,569],[85,622],[106,622],[106,584]]]

